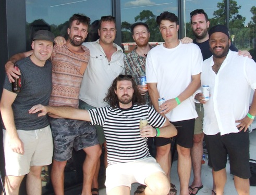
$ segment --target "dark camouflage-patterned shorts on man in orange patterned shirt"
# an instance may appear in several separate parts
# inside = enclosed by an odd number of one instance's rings
[[[67,161],[76,151],[99,144],[95,127],[86,121],[50,117],[54,140],[53,159]]]

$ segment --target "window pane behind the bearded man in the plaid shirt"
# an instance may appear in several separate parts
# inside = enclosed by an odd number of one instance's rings
[[[163,42],[161,33],[156,24],[156,17],[163,11],[173,12],[178,16],[178,1],[177,0],[120,0],[121,4],[121,35],[122,45],[125,48],[125,53],[129,53],[135,46],[130,32],[131,24],[135,22],[145,22],[149,25],[150,29],[150,42],[151,45],[157,42]]]

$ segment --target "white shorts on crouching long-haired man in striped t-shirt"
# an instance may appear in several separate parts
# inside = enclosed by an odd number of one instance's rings
[[[145,179],[156,172],[164,173],[160,164],[153,157],[128,163],[111,164],[106,168],[106,192],[108,193],[118,186],[131,188],[132,183],[145,185]]]

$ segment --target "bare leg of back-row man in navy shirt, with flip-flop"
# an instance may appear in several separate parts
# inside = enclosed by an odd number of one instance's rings
[[[203,155],[203,133],[193,136],[193,147],[191,148],[191,160],[194,179],[191,188],[202,186],[201,180],[201,167],[202,167],[202,155]],[[198,189],[192,191],[189,189],[189,193],[196,193]]]

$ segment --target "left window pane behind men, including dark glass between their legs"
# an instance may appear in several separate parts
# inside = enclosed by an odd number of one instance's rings
[[[31,50],[33,33],[38,30],[50,30],[55,36],[67,37],[68,20],[73,14],[84,14],[91,19],[88,38],[86,41],[95,41],[97,35],[97,22],[101,16],[112,15],[112,0],[26,0],[26,34],[27,50]],[[65,167],[65,189],[82,183],[82,165],[85,153],[73,150],[72,158]],[[104,162],[104,160],[102,160]],[[53,191],[50,181],[51,165],[42,168],[42,194]],[[105,168],[102,163],[99,173],[99,185],[102,187],[105,180]]]

